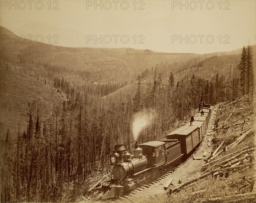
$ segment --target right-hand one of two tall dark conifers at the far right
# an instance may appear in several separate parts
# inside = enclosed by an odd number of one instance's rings
[[[247,93],[250,92],[250,86],[253,82],[253,63],[252,63],[252,53],[251,53],[251,46],[248,45],[246,49],[246,56],[245,56],[245,76],[247,79]]]

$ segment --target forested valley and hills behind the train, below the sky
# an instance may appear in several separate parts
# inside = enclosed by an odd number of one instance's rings
[[[8,32],[1,27],[1,35]],[[255,59],[255,46],[249,52]],[[152,115],[137,139],[152,141],[180,126],[198,102],[214,105],[253,92],[254,80],[245,83],[241,53],[165,54],[5,41],[1,198],[73,200],[109,169],[117,141],[130,148],[134,114]],[[129,76],[106,77],[107,69],[125,69]]]

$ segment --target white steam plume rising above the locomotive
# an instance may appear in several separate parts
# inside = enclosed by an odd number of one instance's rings
[[[132,133],[136,140],[140,134],[140,131],[143,130],[143,128],[148,127],[151,122],[151,113],[138,112],[134,115],[134,121],[132,123]]]

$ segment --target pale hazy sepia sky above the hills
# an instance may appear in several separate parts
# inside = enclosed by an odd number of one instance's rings
[[[56,34],[60,38],[64,30],[74,31],[69,36],[71,44],[77,37],[75,33],[84,34],[81,45],[87,47],[131,47],[203,54],[232,51],[256,42],[255,0],[96,1],[98,5],[102,5],[102,9],[101,6],[96,6],[95,9],[95,1],[86,0],[32,0],[31,3],[26,0],[12,1],[17,9],[15,6],[9,7],[9,0],[0,2],[1,26],[15,31],[27,23],[46,23],[56,28]],[[180,3],[183,6],[180,7]],[[26,8],[22,10],[25,4]],[[39,10],[42,5],[44,7]],[[58,10],[54,10],[54,6]],[[47,26],[44,27],[45,33],[47,29]],[[102,43],[100,40],[94,42],[94,35],[99,38],[102,35]],[[108,35],[111,36],[111,42]],[[120,36],[123,36],[122,40]],[[180,37],[183,38],[182,41]],[[129,41],[125,44],[127,39]],[[139,43],[139,40],[144,43]]]

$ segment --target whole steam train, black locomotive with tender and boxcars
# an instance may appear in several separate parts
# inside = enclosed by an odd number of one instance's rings
[[[122,144],[115,145],[110,156],[113,165],[110,183],[104,183],[104,198],[122,195],[137,185],[149,183],[166,168],[172,169],[192,153],[207,131],[211,108],[209,104],[201,104],[194,116],[192,125],[174,130],[166,135],[166,140],[150,141],[136,144],[131,154]]]

